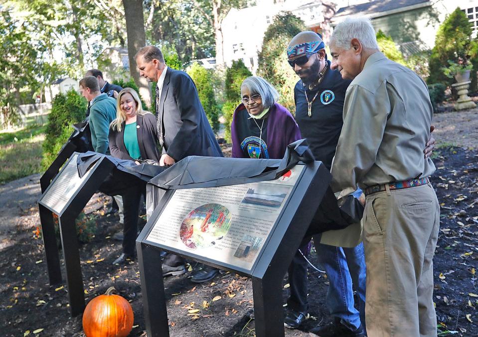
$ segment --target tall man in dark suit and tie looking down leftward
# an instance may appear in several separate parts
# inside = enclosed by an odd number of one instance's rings
[[[202,108],[196,86],[183,71],[168,68],[158,47],[146,46],[136,54],[140,75],[157,82],[156,118],[162,155],[159,165],[173,165],[187,156],[222,157],[222,152]],[[168,254],[162,264],[163,275],[185,273],[184,260]],[[192,280],[205,282],[217,269],[203,267]]]

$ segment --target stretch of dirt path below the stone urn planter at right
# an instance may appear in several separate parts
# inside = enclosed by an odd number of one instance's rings
[[[438,144],[478,148],[478,109],[436,113],[433,123]]]

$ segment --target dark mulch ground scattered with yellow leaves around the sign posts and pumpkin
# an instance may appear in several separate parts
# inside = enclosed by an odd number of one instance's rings
[[[442,206],[434,258],[439,335],[478,336],[478,152],[447,147],[435,155],[438,169],[432,180]],[[97,233],[80,249],[86,301],[114,286],[133,306],[131,336],[146,336],[138,263],[112,265],[121,253],[121,242],[111,236],[121,227],[117,216],[102,215],[105,204],[102,195],[90,201],[90,210],[99,215]],[[48,284],[42,240],[35,234],[37,207],[23,205],[17,216],[20,220],[0,246],[0,334],[84,336],[81,316],[70,317],[66,284]],[[190,274],[164,282],[171,336],[254,336],[254,321],[245,315],[253,306],[250,279],[223,272],[211,282],[195,285]],[[311,271],[309,280],[313,318],[301,331],[286,329],[286,336],[309,336],[309,329],[330,321],[324,306],[325,274]],[[284,299],[287,296],[285,279]]]

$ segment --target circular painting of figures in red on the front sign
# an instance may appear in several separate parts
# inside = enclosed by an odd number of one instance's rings
[[[231,226],[231,212],[220,204],[205,204],[189,212],[179,228],[179,237],[191,249],[218,243]]]

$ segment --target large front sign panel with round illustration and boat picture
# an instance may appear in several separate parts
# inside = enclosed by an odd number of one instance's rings
[[[176,190],[146,241],[251,271],[303,168],[272,181]]]

